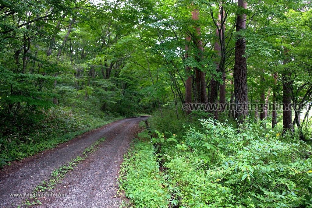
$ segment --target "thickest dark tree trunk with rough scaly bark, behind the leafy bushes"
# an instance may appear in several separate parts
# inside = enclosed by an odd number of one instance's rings
[[[238,0],[238,7],[247,8],[246,0]],[[237,14],[236,31],[246,29],[246,14]],[[242,122],[248,115],[248,91],[247,91],[247,60],[245,55],[245,38],[239,36],[235,44],[234,64],[234,96],[236,104],[235,118]]]

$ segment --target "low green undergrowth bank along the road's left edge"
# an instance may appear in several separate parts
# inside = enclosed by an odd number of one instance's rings
[[[64,107],[52,108],[44,113],[42,119],[32,121],[32,126],[27,129],[14,127],[8,130],[8,126],[0,128],[5,129],[0,132],[0,168],[10,165],[12,161],[55,148],[58,144],[67,142],[82,133],[121,119],[120,117],[94,117]]]

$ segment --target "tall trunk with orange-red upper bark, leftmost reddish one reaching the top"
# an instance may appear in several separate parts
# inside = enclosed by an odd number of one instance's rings
[[[199,20],[199,10],[194,9],[192,11],[192,20],[198,21]],[[203,47],[202,47],[202,40],[200,39],[201,32],[200,32],[200,27],[197,25],[195,26],[196,30],[196,35],[194,36],[194,44],[197,46],[198,49],[198,54],[197,54],[197,60],[200,61],[203,59]],[[206,103],[208,101],[207,98],[207,91],[206,91],[206,79],[205,75],[206,73],[203,72],[202,70],[199,70],[198,68],[195,69],[196,71],[196,86],[197,86],[197,93],[199,97],[199,101],[201,103]]]

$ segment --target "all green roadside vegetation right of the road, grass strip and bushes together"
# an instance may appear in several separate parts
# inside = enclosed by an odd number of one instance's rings
[[[164,115],[149,119],[126,156],[120,187],[133,207],[312,206],[310,144],[263,122],[238,130],[228,121],[193,116],[189,125],[190,118],[172,121],[173,111]]]

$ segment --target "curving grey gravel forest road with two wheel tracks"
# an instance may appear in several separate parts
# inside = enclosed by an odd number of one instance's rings
[[[32,193],[55,168],[80,155],[84,148],[102,137],[106,140],[100,149],[68,172],[63,183],[53,190],[53,193],[66,194],[66,197],[42,198],[40,207],[119,207],[121,199],[114,197],[119,167],[129,143],[139,131],[139,121],[145,119],[115,121],[57,148],[12,162],[0,172],[0,207],[16,207],[25,197],[10,197],[10,193]]]

